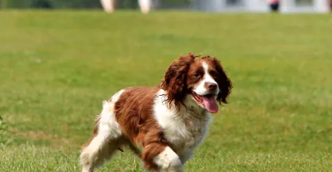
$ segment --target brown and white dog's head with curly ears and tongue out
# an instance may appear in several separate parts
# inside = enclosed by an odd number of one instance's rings
[[[168,91],[168,103],[184,105],[184,99],[191,96],[195,103],[211,113],[218,112],[218,103],[227,103],[231,92],[231,80],[227,78],[216,58],[189,54],[175,60],[166,71],[161,84]]]

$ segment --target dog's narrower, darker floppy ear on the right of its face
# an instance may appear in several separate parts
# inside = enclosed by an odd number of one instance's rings
[[[210,60],[213,62],[213,65],[215,65],[216,70],[218,71],[218,78],[216,81],[219,85],[220,93],[217,95],[216,100],[219,103],[228,103],[227,98],[229,94],[231,94],[231,89],[233,88],[231,80],[227,77],[226,72],[222,69],[220,61],[217,58],[213,57],[210,58]]]

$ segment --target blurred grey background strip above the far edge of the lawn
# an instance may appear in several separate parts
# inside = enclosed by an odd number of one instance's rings
[[[113,1],[120,9],[139,8],[137,0]],[[1,0],[0,8],[102,8],[100,0]],[[211,12],[268,12],[270,3],[281,3],[283,12],[327,12],[331,0],[141,0],[152,9],[186,9]]]

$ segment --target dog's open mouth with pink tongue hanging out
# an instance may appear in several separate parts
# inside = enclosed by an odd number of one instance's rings
[[[199,105],[202,105],[207,111],[210,113],[218,112],[219,107],[216,101],[216,94],[199,95],[195,92],[192,92],[191,94],[193,95],[195,101]]]

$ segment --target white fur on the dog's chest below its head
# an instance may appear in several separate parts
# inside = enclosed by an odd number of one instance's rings
[[[207,134],[211,116],[191,96],[185,100],[186,108],[175,110],[165,103],[166,91],[160,89],[153,105],[155,119],[163,128],[167,141],[184,164]]]

